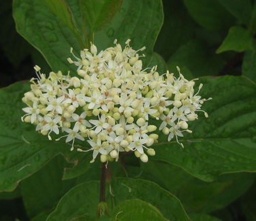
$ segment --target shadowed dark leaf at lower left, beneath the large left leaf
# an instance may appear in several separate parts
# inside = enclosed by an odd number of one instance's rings
[[[63,157],[55,157],[38,172],[21,182],[22,199],[30,218],[39,212],[52,209],[62,195],[75,184],[74,180],[62,181],[63,167],[66,164]]]

